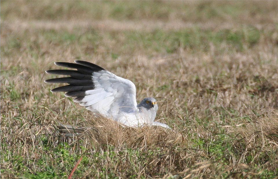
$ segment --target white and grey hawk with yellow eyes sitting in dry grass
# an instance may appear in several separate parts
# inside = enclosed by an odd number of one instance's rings
[[[86,109],[97,112],[117,121],[123,126],[140,127],[144,125],[168,125],[155,122],[158,106],[154,98],[144,98],[136,102],[135,85],[124,78],[87,61],[74,63],[55,62],[57,66],[76,70],[47,70],[48,74],[69,75],[69,77],[45,80],[46,83],[68,83],[54,88],[51,92],[66,92],[66,97],[74,97]]]

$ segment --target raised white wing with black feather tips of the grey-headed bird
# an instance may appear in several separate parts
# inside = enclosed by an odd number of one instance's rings
[[[51,92],[66,92],[65,96],[75,97],[74,102],[109,118],[113,118],[120,111],[128,113],[136,109],[136,88],[131,81],[118,77],[96,64],[79,60],[74,62],[75,64],[55,62],[55,65],[77,70],[45,71],[48,74],[69,75],[45,80],[46,83],[69,84],[54,88]]]

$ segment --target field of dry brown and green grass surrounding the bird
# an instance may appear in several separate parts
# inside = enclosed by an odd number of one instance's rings
[[[1,1],[1,178],[277,178],[278,1]],[[154,97],[123,128],[66,98],[56,61]],[[80,136],[57,130],[92,127]]]

